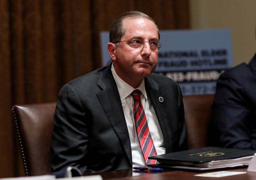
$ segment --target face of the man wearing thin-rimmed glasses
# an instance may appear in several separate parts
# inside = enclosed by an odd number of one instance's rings
[[[123,25],[126,33],[120,41],[125,42],[116,47],[112,60],[116,74],[129,84],[130,81],[141,81],[155,70],[158,50],[152,50],[148,42],[135,48],[127,40],[158,42],[158,33],[154,22],[145,18],[126,18]]]

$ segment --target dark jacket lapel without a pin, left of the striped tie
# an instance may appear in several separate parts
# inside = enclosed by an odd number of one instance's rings
[[[129,133],[117,86],[111,72],[111,65],[102,72],[98,86],[102,90],[97,96],[132,166],[132,150]]]

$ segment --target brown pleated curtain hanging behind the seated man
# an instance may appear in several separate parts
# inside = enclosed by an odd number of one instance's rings
[[[99,32],[118,15],[189,28],[188,0],[0,0],[0,10],[0,177],[24,175],[12,105],[56,101],[65,83],[101,67]]]

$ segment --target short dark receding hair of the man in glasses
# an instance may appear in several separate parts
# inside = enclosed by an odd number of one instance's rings
[[[126,29],[124,28],[124,25],[123,25],[123,20],[125,18],[146,18],[146,19],[152,20],[154,22],[154,24],[156,25],[155,21],[152,18],[150,18],[147,14],[144,14],[139,11],[125,12],[125,13],[121,14],[119,16],[119,18],[117,18],[113,22],[113,24],[110,28],[110,31],[109,31],[109,42],[111,42],[111,43],[118,42],[121,40],[121,37],[125,34]],[[159,29],[157,26],[156,26],[156,30],[158,33],[158,38],[160,39],[160,33],[159,33]]]

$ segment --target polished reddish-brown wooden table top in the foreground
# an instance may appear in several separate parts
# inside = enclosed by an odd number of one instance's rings
[[[238,171],[247,172],[247,168],[238,169],[225,169],[223,171]],[[90,175],[99,174],[104,180],[114,179],[114,180],[256,180],[256,172],[247,172],[246,174],[239,174],[234,176],[226,177],[199,177],[194,176],[196,174],[209,173],[216,171],[207,172],[190,172],[190,171],[178,171],[178,170],[163,170],[162,172],[148,172],[148,171],[138,171],[132,169],[116,170],[103,173],[95,173]]]

